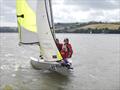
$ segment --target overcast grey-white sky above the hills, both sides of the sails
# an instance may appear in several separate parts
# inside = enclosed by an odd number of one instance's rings
[[[15,0],[0,0],[0,26],[17,26]],[[118,22],[120,0],[52,0],[54,22]]]

